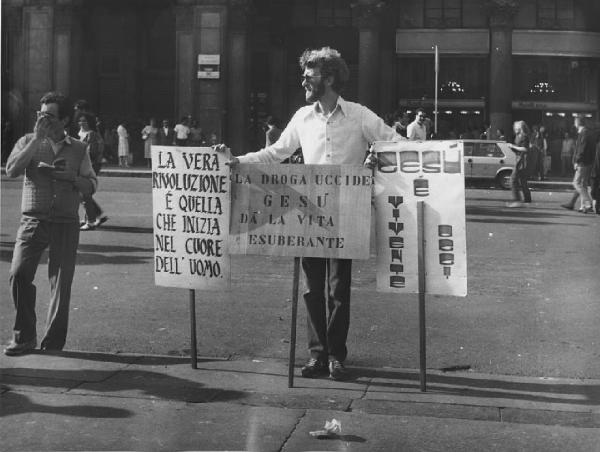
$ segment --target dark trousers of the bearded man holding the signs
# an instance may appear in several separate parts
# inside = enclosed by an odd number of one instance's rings
[[[308,350],[320,360],[344,361],[350,327],[350,259],[302,258],[307,290]]]

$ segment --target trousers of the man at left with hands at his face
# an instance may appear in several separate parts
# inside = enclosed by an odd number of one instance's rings
[[[42,253],[48,248],[50,306],[41,345],[42,348],[56,350],[65,345],[78,244],[77,222],[52,223],[31,218],[21,220],[9,278],[17,311],[13,327],[15,342],[28,342],[36,337],[36,288],[33,280]]]

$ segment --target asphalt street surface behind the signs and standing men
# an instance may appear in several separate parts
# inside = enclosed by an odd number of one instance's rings
[[[0,328],[11,336],[8,271],[21,179],[2,176]],[[153,280],[149,178],[100,177],[110,220],[82,232],[66,349],[182,356],[189,292]],[[498,375],[600,378],[600,216],[560,208],[567,192],[467,190],[468,295],[427,298],[427,367]],[[374,240],[372,239],[372,244]],[[372,246],[372,249],[373,246]],[[355,261],[349,367],[418,368],[417,297],[375,292],[375,259]],[[288,356],[293,259],[235,256],[229,292],[196,292],[198,355]],[[45,259],[36,277],[38,333],[48,305]],[[302,284],[300,287],[302,291]],[[305,352],[300,298],[296,358]]]

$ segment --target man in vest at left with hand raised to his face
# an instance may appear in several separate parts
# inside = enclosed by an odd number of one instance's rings
[[[94,193],[97,185],[85,144],[65,132],[71,114],[66,97],[49,92],[40,104],[33,133],[17,141],[6,162],[8,177],[24,175],[21,225],[10,268],[16,317],[13,339],[4,349],[9,356],[37,346],[33,281],[46,248],[50,307],[41,348],[64,347],[79,244],[79,203],[81,195]]]

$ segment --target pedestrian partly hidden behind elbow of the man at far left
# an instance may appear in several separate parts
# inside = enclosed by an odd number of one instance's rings
[[[78,136],[81,142],[86,146],[90,161],[92,162],[92,168],[97,177],[102,169],[104,142],[96,130],[94,120],[95,117],[93,114],[87,112],[81,113],[79,115],[80,129]],[[104,215],[104,211],[94,200],[94,196],[91,193],[83,194],[81,196],[81,204],[85,210],[85,220],[81,223],[80,227],[82,231],[91,231],[106,223],[108,217]]]

